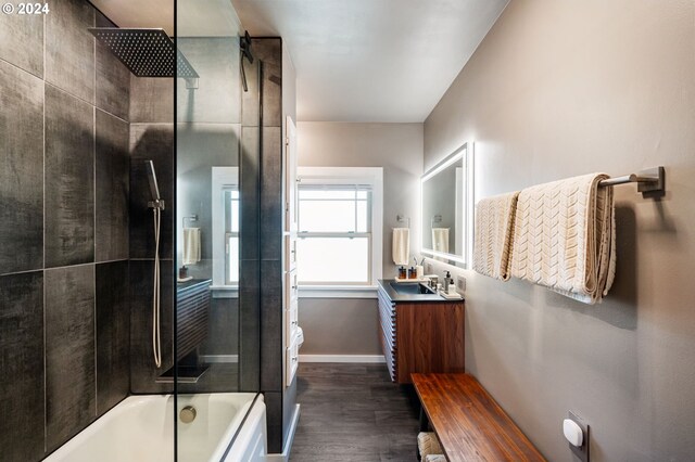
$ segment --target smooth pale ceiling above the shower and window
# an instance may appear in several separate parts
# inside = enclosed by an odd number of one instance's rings
[[[228,30],[230,0],[178,0],[197,34]],[[298,120],[424,121],[508,0],[231,0],[251,36],[280,36]],[[172,34],[172,0],[92,0],[121,27]],[[226,5],[225,5],[226,3]],[[222,24],[217,24],[220,23]],[[182,23],[179,21],[179,23]]]

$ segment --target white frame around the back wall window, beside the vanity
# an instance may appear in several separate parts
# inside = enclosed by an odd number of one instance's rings
[[[368,184],[371,187],[371,261],[367,285],[300,284],[302,298],[376,298],[383,271],[383,168],[298,167],[300,184]]]

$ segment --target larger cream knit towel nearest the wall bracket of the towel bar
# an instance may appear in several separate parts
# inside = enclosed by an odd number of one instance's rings
[[[511,275],[586,304],[608,294],[616,272],[612,188],[591,174],[519,194]]]

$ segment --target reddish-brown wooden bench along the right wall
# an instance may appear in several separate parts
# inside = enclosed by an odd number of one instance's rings
[[[545,460],[472,375],[412,377],[450,462]]]

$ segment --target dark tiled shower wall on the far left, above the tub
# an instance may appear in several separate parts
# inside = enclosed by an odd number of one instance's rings
[[[129,72],[93,25],[83,0],[0,15],[3,461],[42,459],[129,389]]]

